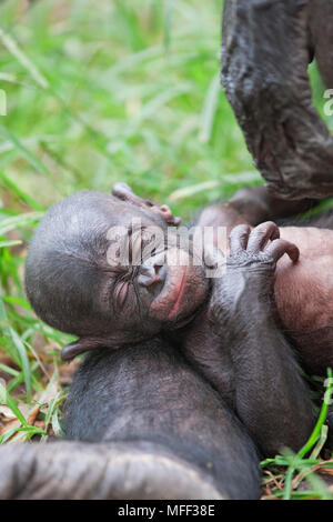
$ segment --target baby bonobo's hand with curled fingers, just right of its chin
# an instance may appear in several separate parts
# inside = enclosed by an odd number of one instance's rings
[[[230,234],[226,272],[213,280],[210,321],[219,329],[225,322],[239,329],[240,322],[249,322],[252,313],[258,320],[260,304],[266,303],[273,288],[276,262],[284,253],[294,263],[300,257],[295,244],[280,239],[279,228],[272,221],[252,231],[248,224],[235,227]],[[264,315],[266,311],[265,307]]]

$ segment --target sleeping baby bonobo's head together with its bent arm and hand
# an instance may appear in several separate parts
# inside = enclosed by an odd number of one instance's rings
[[[218,225],[225,209],[218,212]],[[210,279],[208,267],[194,263],[194,243],[185,251],[176,239],[167,242],[168,229],[178,224],[167,205],[139,198],[123,183],[113,187],[113,195],[85,191],[58,203],[30,245],[27,292],[36,312],[79,337],[63,359],[100,353],[101,347],[108,353],[151,339],[167,341],[228,401],[262,454],[285,445],[299,449],[311,432],[312,408],[271,295],[278,260],[286,253],[293,265],[297,248],[279,239],[272,222],[252,232],[236,227],[225,274]],[[149,259],[131,264],[137,250],[144,258],[151,227],[164,239]],[[112,250],[113,241],[122,237],[130,238],[125,264],[112,258],[120,253]],[[81,388],[87,393],[87,384]],[[87,440],[78,413],[82,419],[82,390],[69,401],[67,434]]]

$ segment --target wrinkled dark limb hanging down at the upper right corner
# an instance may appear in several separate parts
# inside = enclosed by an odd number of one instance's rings
[[[332,1],[224,1],[222,83],[256,168],[283,199],[333,195],[333,139],[311,101],[313,57],[333,88]]]

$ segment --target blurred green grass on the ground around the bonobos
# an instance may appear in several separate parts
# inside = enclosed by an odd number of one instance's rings
[[[22,288],[44,209],[122,180],[188,219],[261,182],[219,84],[220,19],[220,0],[0,3],[1,443],[61,432],[75,367],[61,365],[69,338],[37,320]],[[322,110],[314,68],[311,77]],[[297,473],[323,468],[319,444],[311,461],[266,463],[264,495],[331,498],[315,474],[307,493],[292,493]]]

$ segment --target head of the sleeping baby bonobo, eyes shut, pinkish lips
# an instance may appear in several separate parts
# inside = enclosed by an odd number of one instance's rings
[[[191,244],[182,249],[176,233],[167,241],[179,223],[167,205],[124,183],[112,195],[83,191],[51,207],[30,243],[26,288],[44,322],[79,337],[63,359],[149,339],[192,319],[209,283]]]

